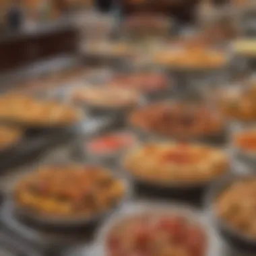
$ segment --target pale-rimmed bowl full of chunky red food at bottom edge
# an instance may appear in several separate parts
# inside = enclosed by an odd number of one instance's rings
[[[214,232],[193,208],[147,201],[127,205],[99,230],[96,241],[102,256],[204,256],[220,251]]]

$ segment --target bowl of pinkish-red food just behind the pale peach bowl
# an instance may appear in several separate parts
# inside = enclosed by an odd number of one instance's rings
[[[154,100],[169,97],[172,92],[173,81],[170,81],[164,73],[140,71],[117,75],[110,82],[110,86],[135,90],[147,100]]]

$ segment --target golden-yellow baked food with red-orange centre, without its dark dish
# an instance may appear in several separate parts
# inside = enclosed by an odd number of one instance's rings
[[[224,152],[209,146],[148,143],[129,152],[123,165],[140,181],[159,185],[201,184],[228,171]]]

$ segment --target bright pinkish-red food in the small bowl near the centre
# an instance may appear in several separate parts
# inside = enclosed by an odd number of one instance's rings
[[[86,143],[87,152],[94,156],[116,154],[135,144],[135,136],[131,133],[109,133],[92,139]]]

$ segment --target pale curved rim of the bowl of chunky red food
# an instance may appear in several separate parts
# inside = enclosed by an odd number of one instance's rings
[[[127,203],[123,209],[110,218],[106,224],[100,228],[96,236],[96,244],[94,251],[98,255],[107,255],[106,241],[113,228],[117,224],[121,224],[125,220],[129,220],[135,216],[162,216],[166,214],[173,214],[174,216],[184,217],[185,220],[198,225],[204,232],[205,240],[207,241],[207,249],[205,255],[212,256],[215,253],[220,253],[220,244],[218,238],[215,236],[214,231],[209,226],[207,221],[196,210],[184,205],[170,204],[155,201],[135,201],[134,203]]]

